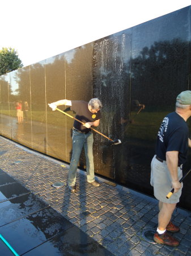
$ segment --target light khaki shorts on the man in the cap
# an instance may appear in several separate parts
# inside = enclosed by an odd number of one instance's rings
[[[178,176],[179,180],[182,177],[182,166],[178,167]],[[173,193],[173,195],[167,199],[166,195],[171,191],[172,184],[171,184],[171,175],[169,173],[167,164],[165,161],[159,162],[156,159],[156,155],[152,158],[151,162],[151,180],[150,183],[152,187],[154,187],[154,196],[156,199],[163,203],[168,204],[176,204],[179,203],[182,188],[179,189],[178,192]]]

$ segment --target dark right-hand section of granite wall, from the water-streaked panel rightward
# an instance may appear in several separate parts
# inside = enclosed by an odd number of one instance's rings
[[[93,92],[104,105],[101,131],[122,141],[108,147],[96,137],[96,170],[150,195],[150,163],[160,123],[175,110],[176,96],[190,90],[190,10],[186,7],[94,43]],[[190,167],[189,152],[184,171]],[[187,209],[190,181],[191,175],[180,203]]]

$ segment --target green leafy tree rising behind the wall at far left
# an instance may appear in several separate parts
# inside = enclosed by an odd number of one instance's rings
[[[22,67],[22,61],[15,49],[2,47],[0,50],[0,76]]]

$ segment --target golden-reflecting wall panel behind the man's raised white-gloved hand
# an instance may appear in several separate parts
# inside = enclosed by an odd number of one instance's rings
[[[46,60],[46,102],[51,103],[66,98],[65,55],[61,54]],[[58,159],[67,159],[66,117],[60,112],[47,108],[46,154]],[[55,132],[56,131],[56,132]],[[59,150],[58,150],[59,148]]]

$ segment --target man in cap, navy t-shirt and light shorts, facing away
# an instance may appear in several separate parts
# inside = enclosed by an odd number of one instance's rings
[[[179,245],[179,241],[169,232],[180,231],[171,222],[176,204],[179,202],[182,190],[182,164],[186,161],[189,131],[186,120],[191,116],[191,91],[181,92],[176,99],[176,111],[168,114],[162,122],[156,143],[156,155],[151,162],[151,185],[154,195],[159,200],[158,228],[154,240],[169,246]],[[167,199],[171,189],[175,192]]]

